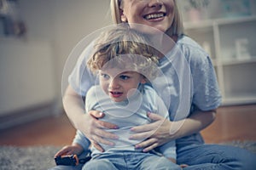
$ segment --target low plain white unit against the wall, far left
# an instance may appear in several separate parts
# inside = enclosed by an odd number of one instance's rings
[[[49,42],[9,39],[0,42],[0,51],[0,115],[55,101]]]

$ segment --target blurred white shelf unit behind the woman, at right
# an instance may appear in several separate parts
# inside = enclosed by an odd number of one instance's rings
[[[223,105],[256,103],[256,16],[185,22],[184,27],[212,57]],[[239,40],[246,40],[249,55],[238,57]]]

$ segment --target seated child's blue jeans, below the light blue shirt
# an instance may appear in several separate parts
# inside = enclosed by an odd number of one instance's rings
[[[177,164],[169,161],[164,156],[156,156],[151,153],[118,152],[96,156],[85,163],[83,170],[125,170],[125,169],[152,169],[152,170],[176,170],[181,169]]]

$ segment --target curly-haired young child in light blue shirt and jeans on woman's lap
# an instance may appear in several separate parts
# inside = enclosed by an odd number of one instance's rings
[[[158,74],[158,59],[146,42],[146,37],[127,26],[104,32],[96,40],[87,65],[98,75],[100,85],[93,86],[86,94],[85,111],[102,111],[105,114],[102,120],[116,124],[119,129],[105,129],[118,138],[112,140],[112,146],[101,144],[104,152],[92,146],[92,159],[83,169],[181,169],[176,164],[174,141],[145,153],[134,147],[142,140],[129,139],[131,127],[150,122],[148,112],[169,118],[166,105],[147,84]],[[79,155],[89,146],[90,141],[78,130],[73,144],[55,156]]]

